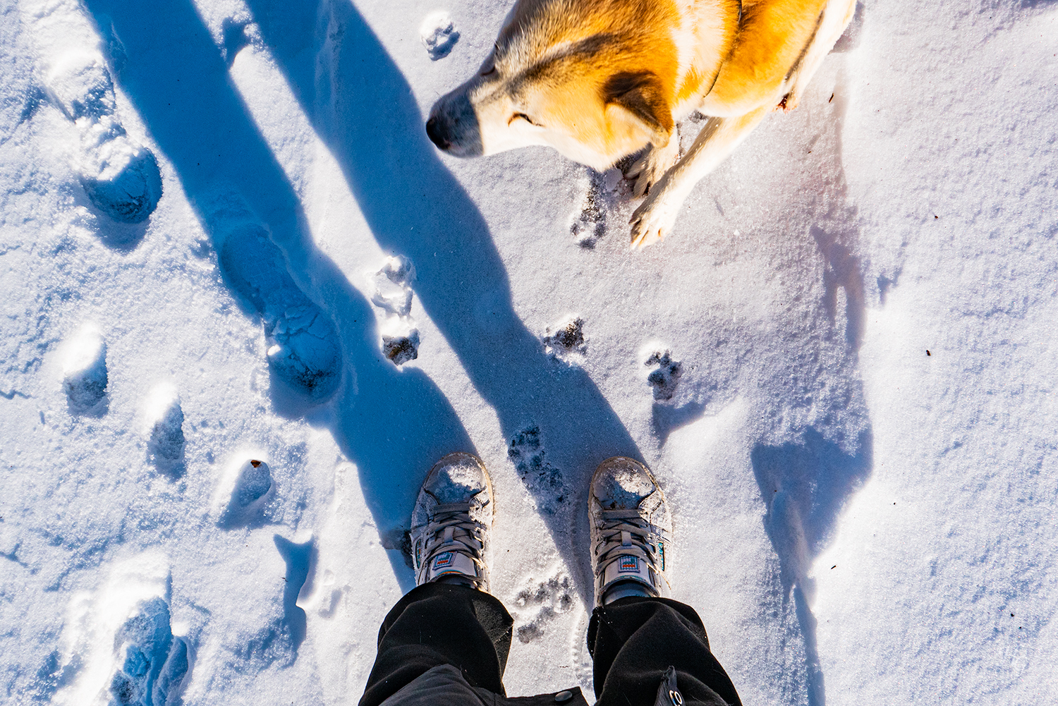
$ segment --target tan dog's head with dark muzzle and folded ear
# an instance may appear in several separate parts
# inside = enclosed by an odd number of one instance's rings
[[[673,127],[673,10],[654,0],[519,0],[477,75],[426,133],[456,157],[550,145],[604,169]]]

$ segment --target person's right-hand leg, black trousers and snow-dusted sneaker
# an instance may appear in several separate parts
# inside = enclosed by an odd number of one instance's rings
[[[588,651],[599,706],[738,705],[697,613],[669,598],[672,514],[650,470],[632,458],[604,460],[591,476],[588,515],[598,604]]]

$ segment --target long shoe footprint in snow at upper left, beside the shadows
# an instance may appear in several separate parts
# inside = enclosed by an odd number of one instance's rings
[[[162,198],[158,160],[114,115],[114,85],[103,57],[68,52],[45,83],[55,105],[77,126],[75,168],[89,200],[117,222],[147,220]]]

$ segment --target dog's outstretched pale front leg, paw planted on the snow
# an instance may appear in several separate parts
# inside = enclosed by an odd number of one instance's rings
[[[632,247],[642,248],[663,238],[694,185],[716,168],[770,109],[766,105],[737,117],[710,117],[683,159],[661,177],[632,214]]]

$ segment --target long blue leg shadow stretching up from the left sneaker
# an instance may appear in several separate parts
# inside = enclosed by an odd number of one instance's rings
[[[382,357],[371,305],[312,242],[293,187],[191,3],[87,0],[87,5],[111,52],[125,57],[115,80],[176,168],[213,250],[223,255],[234,233],[253,245],[235,253],[243,261],[258,258],[289,268],[289,274],[266,272],[285,286],[293,284],[291,277],[312,283],[305,290],[333,320],[346,369],[333,431],[358,466],[383,541],[399,545],[400,528],[431,465],[451,451],[473,449],[462,423],[421,370],[399,370]],[[218,261],[247,312],[257,315],[248,302],[253,292],[237,286],[244,273],[226,271],[224,257]],[[291,409],[296,402],[284,397],[281,386],[273,384],[272,391],[278,411],[291,416],[305,411]],[[395,554],[394,571],[406,590],[414,577]]]

